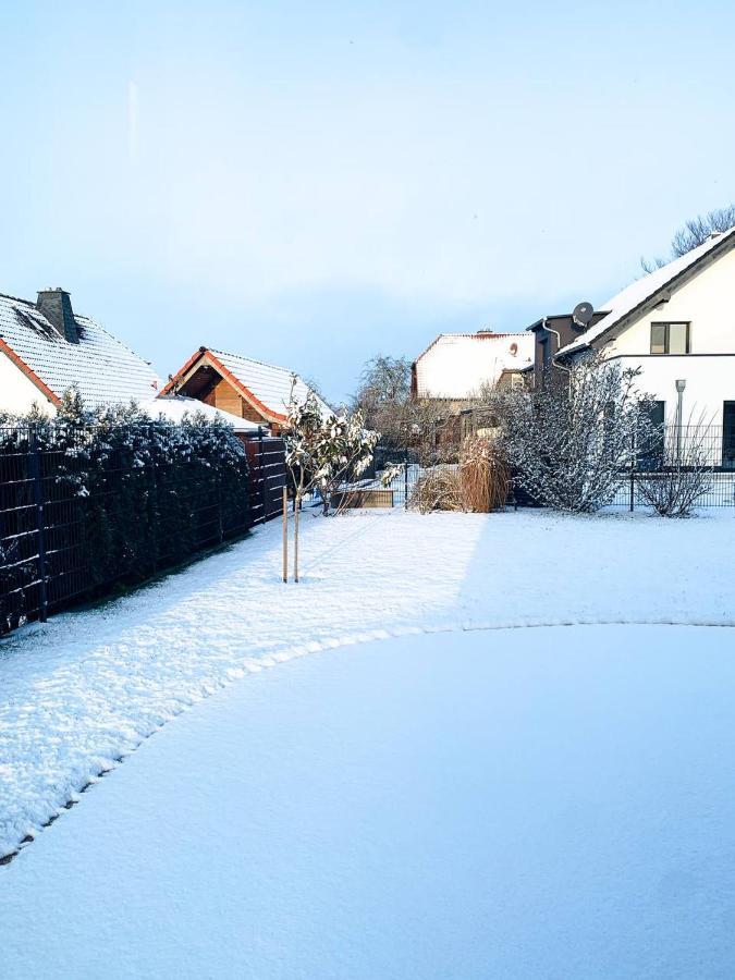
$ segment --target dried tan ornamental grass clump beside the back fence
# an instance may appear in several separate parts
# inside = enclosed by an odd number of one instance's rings
[[[460,464],[427,469],[417,480],[408,506],[430,511],[471,511],[489,514],[507,500],[510,473],[492,440],[465,439]]]

